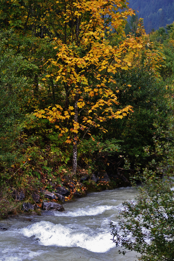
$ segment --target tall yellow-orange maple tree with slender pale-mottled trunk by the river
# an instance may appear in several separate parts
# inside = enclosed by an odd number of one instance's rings
[[[125,54],[141,49],[142,44],[134,37],[122,40],[125,19],[134,15],[125,1],[57,1],[56,4],[60,10],[55,18],[58,37],[53,42],[57,58],[45,61],[47,73],[42,80],[45,85],[49,78],[58,83],[64,93],[63,108],[57,104],[51,109],[38,110],[35,115],[55,123],[59,136],[69,132],[66,142],[73,142],[72,173],[75,174],[77,144],[87,133],[90,135],[90,129],[99,127],[105,132],[101,122],[122,118],[132,110],[131,106],[113,109],[113,104],[118,104],[119,90],[114,93],[109,86],[116,84],[113,75],[118,69],[127,70],[131,65]],[[120,44],[111,45],[110,35]]]

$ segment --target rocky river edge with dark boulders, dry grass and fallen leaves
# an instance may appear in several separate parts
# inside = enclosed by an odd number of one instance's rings
[[[22,212],[41,215],[41,210],[64,211],[65,201],[80,198],[91,191],[129,185],[126,175],[118,172],[113,175],[101,170],[92,175],[84,173],[79,180],[63,175],[59,183],[47,181],[45,186],[41,183],[26,190],[12,187],[0,198],[0,218]]]

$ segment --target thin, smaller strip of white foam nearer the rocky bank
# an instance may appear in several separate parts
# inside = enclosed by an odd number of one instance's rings
[[[55,212],[55,216],[63,217],[80,217],[80,216],[96,216],[102,214],[106,210],[115,208],[114,206],[101,205],[97,207],[86,207],[75,209],[74,211]]]

